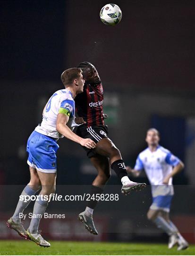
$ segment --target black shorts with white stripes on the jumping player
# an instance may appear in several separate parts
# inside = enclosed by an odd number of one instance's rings
[[[79,126],[76,130],[76,134],[82,138],[90,138],[95,143],[100,141],[102,138],[107,138],[108,135],[108,127],[103,125],[94,125],[90,127],[86,126]],[[87,156],[91,158],[92,156],[96,155],[94,149],[88,149],[83,146],[85,151],[87,152]]]

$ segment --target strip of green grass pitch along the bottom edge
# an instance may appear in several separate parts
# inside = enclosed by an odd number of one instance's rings
[[[167,244],[49,241],[51,247],[31,241],[1,240],[0,255],[195,255],[195,245],[187,250],[167,248]]]

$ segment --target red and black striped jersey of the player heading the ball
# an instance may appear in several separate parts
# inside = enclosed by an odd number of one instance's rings
[[[103,87],[100,84],[85,82],[83,93],[75,98],[76,112],[86,122],[87,127],[104,125],[103,120]]]

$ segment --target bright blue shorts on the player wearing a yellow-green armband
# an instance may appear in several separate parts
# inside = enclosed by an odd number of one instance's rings
[[[33,131],[27,141],[27,164],[42,173],[56,173],[58,148],[55,138]]]

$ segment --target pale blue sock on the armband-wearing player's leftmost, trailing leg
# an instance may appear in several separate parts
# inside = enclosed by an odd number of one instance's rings
[[[22,196],[29,196],[29,199],[28,199],[28,197],[27,198],[23,197],[24,200],[19,200],[18,201],[16,210],[14,212],[14,215],[12,216],[12,219],[13,219],[14,222],[19,223],[21,221],[20,218],[19,218],[19,214],[22,213],[25,210],[25,208],[29,205],[29,203],[31,201],[30,196],[34,195],[36,192],[37,191],[33,190],[29,185],[25,186],[21,195]]]

